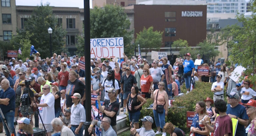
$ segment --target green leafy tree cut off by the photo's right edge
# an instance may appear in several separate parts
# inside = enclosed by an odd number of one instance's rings
[[[250,17],[238,14],[237,19],[243,23],[242,29],[232,29],[234,39],[231,43],[230,59],[233,63],[246,68],[245,74],[249,75],[251,83],[256,82],[256,1],[250,1],[250,10],[253,13]],[[252,76],[252,75],[253,76]],[[255,87],[256,88],[256,87]],[[254,88],[254,89],[255,89]]]

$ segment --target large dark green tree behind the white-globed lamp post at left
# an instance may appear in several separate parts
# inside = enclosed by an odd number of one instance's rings
[[[49,6],[49,3],[40,6],[37,6],[33,11],[31,17],[24,24],[24,29],[17,30],[19,35],[20,43],[22,40],[27,38],[32,45],[35,46],[35,49],[40,52],[42,58],[50,56],[50,36],[48,33],[48,28],[53,29],[52,33],[52,51],[53,53],[60,54],[61,51],[67,51],[65,48],[65,36],[66,31],[62,29],[62,26],[57,26],[57,18],[52,12],[52,8]],[[26,36],[29,34],[29,36]],[[27,43],[27,42],[26,42]],[[30,52],[30,49],[29,49]]]

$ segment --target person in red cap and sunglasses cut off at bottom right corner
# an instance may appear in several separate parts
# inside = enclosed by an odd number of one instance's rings
[[[246,114],[250,116],[252,119],[250,125],[247,127],[248,136],[256,136],[256,100],[250,100],[247,104],[243,104],[246,106]]]

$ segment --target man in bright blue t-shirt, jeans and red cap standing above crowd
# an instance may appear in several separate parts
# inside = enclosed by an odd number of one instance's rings
[[[185,84],[187,88],[187,93],[189,93],[189,85],[190,85],[190,79],[191,77],[194,76],[194,70],[195,70],[195,65],[192,60],[190,60],[190,53],[186,54],[186,60],[183,62],[183,67],[184,67],[184,79],[185,79]]]

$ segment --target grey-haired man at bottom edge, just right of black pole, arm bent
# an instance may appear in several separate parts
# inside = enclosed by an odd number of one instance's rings
[[[91,134],[93,130],[93,126],[97,125],[102,130],[101,131],[102,136],[116,136],[116,132],[110,126],[110,123],[111,123],[111,119],[109,117],[104,117],[101,122],[95,119],[92,121],[90,127],[88,128],[88,132],[89,134]],[[94,135],[92,134],[92,136]]]

